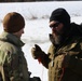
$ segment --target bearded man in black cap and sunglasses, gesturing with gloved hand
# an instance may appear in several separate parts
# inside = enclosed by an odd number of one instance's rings
[[[49,81],[82,81],[82,27],[70,23],[68,12],[58,8],[51,14],[50,28],[47,54],[36,44],[33,58],[49,69]]]

